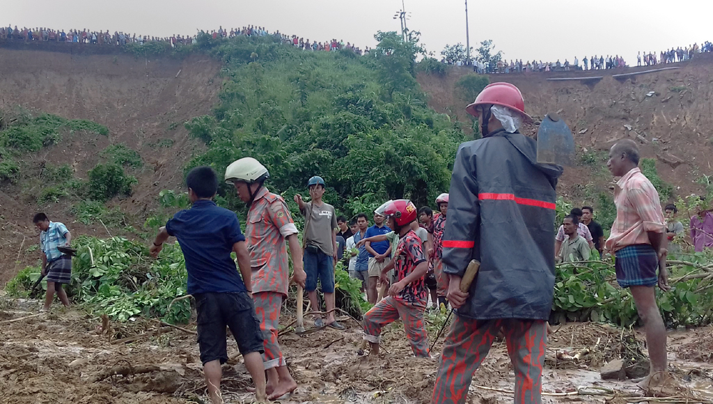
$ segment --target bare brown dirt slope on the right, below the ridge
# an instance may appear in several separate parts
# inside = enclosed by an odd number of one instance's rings
[[[534,116],[560,111],[575,133],[578,154],[607,151],[614,141],[632,138],[640,143],[643,156],[657,158],[660,176],[672,183],[680,195],[703,191],[694,181],[713,173],[713,57],[700,56],[689,62],[666,65],[680,69],[633,76],[626,80],[612,74],[644,71],[647,68],[594,72],[493,74],[491,82],[508,81],[518,86],[525,108]],[[655,66],[660,67],[660,66]],[[430,105],[443,113],[468,121],[466,100],[458,99],[454,87],[470,69],[454,68],[446,78],[421,75],[419,83],[431,95]],[[603,76],[593,84],[585,81],[548,81],[555,77]],[[652,96],[647,96],[650,92]],[[470,101],[472,102],[472,100]],[[583,132],[583,133],[580,133]],[[656,139],[656,140],[655,140]],[[596,164],[569,168],[560,193],[581,200],[581,184],[605,188],[610,181]],[[603,174],[603,175],[602,175]],[[602,178],[605,177],[605,178]]]

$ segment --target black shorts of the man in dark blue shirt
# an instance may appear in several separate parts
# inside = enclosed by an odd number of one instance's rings
[[[235,337],[243,356],[252,352],[264,353],[260,320],[247,293],[194,293],[198,312],[198,348],[200,361],[227,362],[227,334],[225,326]]]

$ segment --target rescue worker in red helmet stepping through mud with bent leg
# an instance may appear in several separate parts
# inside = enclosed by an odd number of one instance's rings
[[[364,340],[371,345],[369,355],[379,354],[381,328],[401,318],[414,355],[429,358],[429,340],[424,326],[424,310],[428,303],[424,275],[428,264],[421,239],[411,228],[418,216],[416,206],[408,199],[399,199],[384,203],[375,213],[387,218],[389,228],[399,235],[399,243],[394,246],[396,282],[389,288],[389,296],[367,311],[362,322]],[[382,283],[388,284],[388,272],[388,267],[381,269]]]

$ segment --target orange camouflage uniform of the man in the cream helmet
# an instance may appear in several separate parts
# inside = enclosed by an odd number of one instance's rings
[[[289,266],[285,238],[297,234],[282,196],[262,187],[247,211],[245,238],[252,268],[252,299],[265,338],[265,369],[287,365],[277,343],[282,299],[287,297]]]

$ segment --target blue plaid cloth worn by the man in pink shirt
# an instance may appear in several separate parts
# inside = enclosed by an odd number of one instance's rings
[[[614,268],[617,282],[622,288],[630,286],[655,286],[659,257],[650,244],[626,246],[616,253]]]

